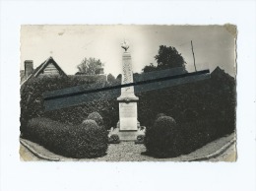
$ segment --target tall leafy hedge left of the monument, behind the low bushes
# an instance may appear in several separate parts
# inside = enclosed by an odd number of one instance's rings
[[[105,99],[105,94],[109,91],[102,92],[96,101],[85,102],[80,105],[70,106],[57,110],[45,111],[43,105],[43,93],[59,89],[65,89],[75,86],[88,88],[99,88],[110,86],[105,82],[102,76],[83,77],[69,76],[63,77],[42,77],[34,78],[26,82],[21,87],[21,134],[26,136],[28,131],[28,122],[35,117],[46,117],[55,121],[64,122],[71,125],[79,125],[86,116],[97,111],[104,118],[105,128],[115,126],[118,121],[118,104],[116,97]],[[120,90],[114,90],[120,92]]]

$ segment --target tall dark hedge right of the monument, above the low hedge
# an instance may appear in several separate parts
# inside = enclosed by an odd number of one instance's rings
[[[140,98],[139,121],[147,128],[156,115],[164,113],[177,123],[210,119],[235,119],[234,79],[223,71],[215,71],[211,78],[166,89],[137,94]],[[220,135],[222,136],[222,135]]]

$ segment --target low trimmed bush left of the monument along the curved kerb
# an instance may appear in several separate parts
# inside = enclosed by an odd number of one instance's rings
[[[68,158],[97,158],[107,150],[107,131],[95,121],[72,126],[38,117],[29,121],[26,138]]]

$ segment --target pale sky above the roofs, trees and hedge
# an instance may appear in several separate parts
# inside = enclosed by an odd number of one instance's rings
[[[233,28],[226,26],[22,26],[21,69],[24,61],[32,60],[37,67],[49,56],[66,74],[78,72],[84,58],[95,57],[104,64],[104,73],[115,77],[121,73],[121,43],[129,42],[133,72],[153,63],[160,45],[174,46],[186,61],[189,72],[194,71],[191,40],[197,70],[217,66],[235,76],[235,37]]]

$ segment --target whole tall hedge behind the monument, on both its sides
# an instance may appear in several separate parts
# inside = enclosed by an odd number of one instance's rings
[[[93,82],[89,79],[89,84],[86,84],[84,81],[82,83],[72,79],[45,78],[34,79],[27,83],[21,93],[22,127],[37,116],[69,124],[80,124],[85,120],[85,116],[94,111],[102,116],[107,129],[115,127],[119,118],[118,102],[115,97],[104,99],[104,94],[109,94],[107,92],[102,92],[101,98],[96,101],[44,112],[42,98],[44,92],[82,84],[96,88],[120,84],[119,79],[108,83],[102,80]],[[138,120],[147,127],[154,123],[155,116],[161,112],[172,116],[178,123],[216,118],[233,119],[232,124],[234,124],[235,82],[233,78],[222,72],[217,75],[212,74],[209,80],[150,91],[137,96],[140,98]]]

